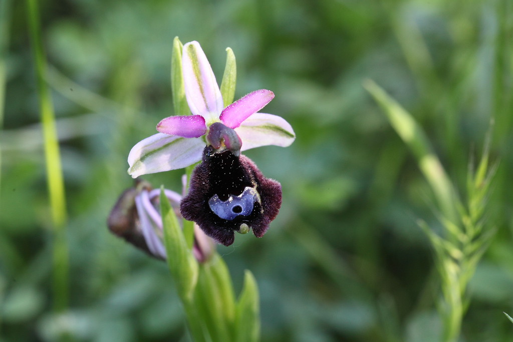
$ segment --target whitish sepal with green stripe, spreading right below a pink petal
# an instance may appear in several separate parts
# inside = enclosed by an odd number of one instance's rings
[[[242,140],[241,151],[267,145],[287,147],[295,139],[294,130],[284,118],[264,113],[254,113],[235,132]]]

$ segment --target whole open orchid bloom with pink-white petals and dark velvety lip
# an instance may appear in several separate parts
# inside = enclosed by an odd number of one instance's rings
[[[182,200],[183,217],[228,246],[234,231],[261,237],[278,214],[280,183],[263,176],[241,151],[289,146],[292,127],[281,117],[258,113],[274,97],[253,91],[224,107],[221,91],[198,42],[183,46],[183,84],[193,115],[161,120],[160,133],[137,143],[128,156],[132,177],[198,165]]]

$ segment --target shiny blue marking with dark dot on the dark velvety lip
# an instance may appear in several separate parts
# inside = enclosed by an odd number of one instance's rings
[[[259,202],[257,190],[246,187],[239,196],[230,195],[225,201],[215,194],[208,200],[208,206],[214,214],[231,221],[239,215],[251,214],[255,202]]]

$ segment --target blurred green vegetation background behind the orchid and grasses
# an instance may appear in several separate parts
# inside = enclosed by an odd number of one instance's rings
[[[23,1],[8,16],[0,132],[0,340],[188,341],[166,265],[111,235],[132,185],[131,147],[172,115],[172,39],[202,45],[235,98],[270,89],[289,148],[247,151],[283,186],[267,234],[219,247],[235,292],[258,280],[263,341],[435,342],[439,276],[417,226],[440,227],[433,194],[362,87],[371,78],[418,120],[465,198],[468,163],[495,118],[500,159],[485,217],[498,233],[469,284],[463,341],[513,325],[513,4],[509,0],[43,0],[69,223],[70,303],[51,308],[50,211]],[[5,18],[3,19],[5,20]],[[6,22],[1,24],[5,24]],[[143,176],[179,190],[182,171]]]

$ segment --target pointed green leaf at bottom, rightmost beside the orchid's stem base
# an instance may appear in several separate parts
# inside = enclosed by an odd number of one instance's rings
[[[260,338],[259,295],[257,280],[250,271],[244,274],[244,286],[236,308],[235,340],[257,342]]]

